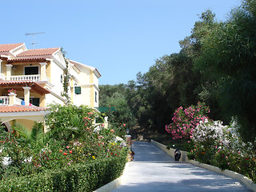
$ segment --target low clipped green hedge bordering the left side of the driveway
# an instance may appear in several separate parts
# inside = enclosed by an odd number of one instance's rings
[[[122,174],[126,157],[98,159],[88,164],[47,170],[0,182],[0,191],[92,191]]]

